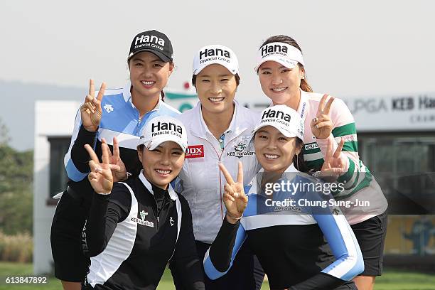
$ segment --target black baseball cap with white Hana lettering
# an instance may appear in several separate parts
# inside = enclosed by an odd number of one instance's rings
[[[134,36],[127,60],[130,60],[133,55],[142,51],[154,53],[164,62],[173,61],[171,41],[164,33],[156,30],[144,31]]]

